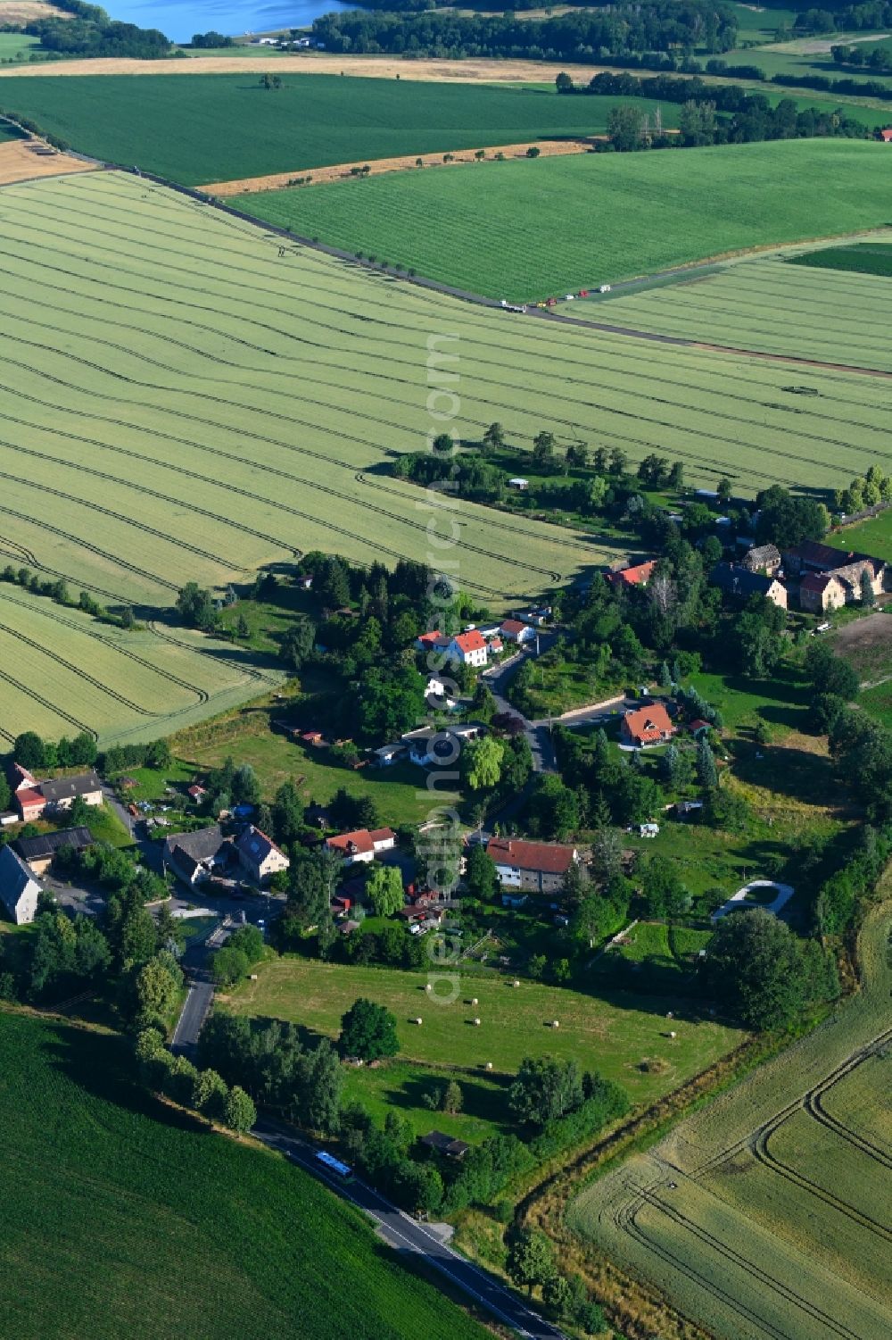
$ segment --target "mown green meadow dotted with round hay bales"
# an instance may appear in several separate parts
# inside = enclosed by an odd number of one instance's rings
[[[676,1088],[741,1038],[735,1029],[698,1018],[696,1008],[691,1013],[675,994],[651,997],[643,1008],[628,993],[596,997],[529,981],[514,988],[509,977],[493,974],[466,976],[454,1004],[437,1004],[425,992],[422,973],[295,957],[263,963],[257,973],[256,982],[245,982],[229,998],[229,1009],[293,1020],[338,1036],[343,1013],[366,996],[395,1013],[400,1060],[479,1072],[492,1061],[498,1077],[513,1073],[524,1056],[552,1053],[617,1080],[636,1103]],[[446,990],[446,985],[439,989]],[[479,1001],[475,1006],[473,997]],[[674,1041],[666,1036],[667,1009],[679,1020]],[[423,1018],[421,1028],[414,1022],[418,1016]],[[474,1017],[481,1018],[479,1028]],[[554,1018],[559,1029],[549,1026]],[[642,1061],[654,1056],[667,1063],[659,1073],[642,1069]]]

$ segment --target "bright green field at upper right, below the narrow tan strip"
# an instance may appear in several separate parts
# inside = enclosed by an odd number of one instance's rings
[[[798,139],[686,149],[683,159],[642,153],[467,163],[241,196],[238,206],[446,284],[526,302],[722,252],[888,224],[885,151],[863,141]]]

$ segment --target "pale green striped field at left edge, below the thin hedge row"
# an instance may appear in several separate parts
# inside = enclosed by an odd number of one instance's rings
[[[1,515],[1,512],[0,512]],[[1,523],[0,523],[1,524]],[[9,552],[0,537],[0,553]],[[0,583],[0,738],[157,740],[276,683],[224,643],[157,624],[125,632]]]

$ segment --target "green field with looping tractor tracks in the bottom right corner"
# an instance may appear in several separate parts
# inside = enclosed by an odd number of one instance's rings
[[[861,990],[832,1018],[569,1207],[721,1340],[892,1329],[891,911],[869,913]]]

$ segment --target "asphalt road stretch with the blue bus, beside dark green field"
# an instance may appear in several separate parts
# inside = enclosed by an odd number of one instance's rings
[[[563,1331],[528,1308],[522,1298],[516,1297],[494,1276],[441,1241],[429,1225],[418,1223],[372,1187],[366,1186],[364,1182],[355,1178],[350,1182],[342,1182],[336,1174],[329,1174],[313,1158],[316,1147],[309,1142],[288,1135],[275,1123],[267,1120],[257,1122],[253,1135],[279,1150],[292,1163],[300,1164],[343,1199],[364,1210],[375,1221],[380,1235],[390,1246],[398,1252],[414,1252],[423,1257],[430,1266],[449,1276],[463,1293],[492,1312],[500,1321],[512,1327],[525,1340],[567,1340]]]

